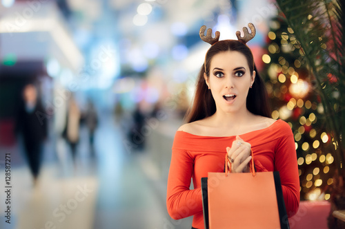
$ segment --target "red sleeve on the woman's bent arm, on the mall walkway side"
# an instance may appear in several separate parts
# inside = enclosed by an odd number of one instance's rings
[[[201,188],[190,190],[193,157],[184,150],[172,149],[166,205],[172,219],[202,212]]]

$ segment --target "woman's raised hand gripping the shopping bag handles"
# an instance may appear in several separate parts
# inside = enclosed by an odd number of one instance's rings
[[[251,145],[239,138],[239,135],[236,136],[231,148],[226,147],[228,159],[231,163],[231,173],[248,173],[250,171],[249,162],[252,159],[250,149]]]

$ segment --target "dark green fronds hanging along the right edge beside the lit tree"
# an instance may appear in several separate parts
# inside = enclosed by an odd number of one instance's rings
[[[303,58],[316,82],[331,131],[339,173],[345,177],[345,19],[344,1],[277,0],[284,20],[293,29]]]

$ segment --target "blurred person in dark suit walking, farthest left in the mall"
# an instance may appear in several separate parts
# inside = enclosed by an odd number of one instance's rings
[[[23,88],[22,101],[17,112],[16,132],[23,137],[26,160],[32,173],[34,185],[41,168],[43,143],[47,138],[48,122],[38,97],[37,88],[28,84]]]

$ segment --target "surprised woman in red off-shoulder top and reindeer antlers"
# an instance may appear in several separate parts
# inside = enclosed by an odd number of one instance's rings
[[[255,36],[244,28],[235,40],[218,41],[210,29],[201,39],[212,46],[199,72],[187,123],[175,135],[168,175],[167,208],[173,219],[193,217],[193,228],[204,228],[201,177],[224,172],[227,153],[232,173],[249,171],[253,151],[257,172],[279,171],[288,216],[299,206],[299,175],[290,126],[270,118],[268,96],[246,42]],[[193,189],[190,179],[193,178]]]

